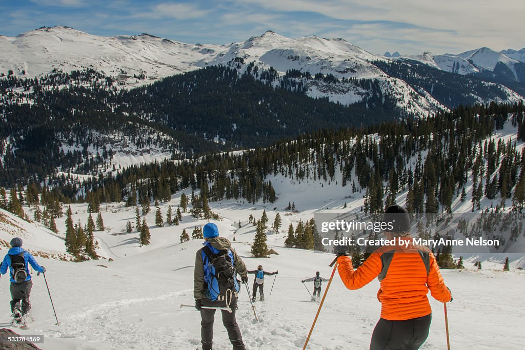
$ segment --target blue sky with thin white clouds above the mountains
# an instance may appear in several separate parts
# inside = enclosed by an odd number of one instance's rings
[[[66,25],[103,36],[226,44],[270,29],[344,38],[374,54],[525,47],[523,0],[0,0],[0,13],[6,36]]]

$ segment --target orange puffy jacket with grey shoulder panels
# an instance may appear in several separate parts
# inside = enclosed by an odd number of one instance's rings
[[[406,238],[410,239],[411,238]],[[427,293],[440,302],[450,301],[450,291],[439,272],[434,254],[422,246],[384,246],[375,250],[356,270],[350,257],[337,259],[346,288],[354,290],[378,278],[381,318],[402,321],[432,313]]]

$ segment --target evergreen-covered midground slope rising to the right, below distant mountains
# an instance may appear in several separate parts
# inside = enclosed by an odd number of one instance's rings
[[[365,191],[364,210],[369,213],[381,212],[404,190],[408,190],[409,210],[436,213],[450,211],[458,196],[463,200],[465,185],[472,181],[473,210],[480,209],[485,197],[497,199],[495,205],[509,199],[522,208],[525,152],[517,151],[516,142],[525,141],[524,110],[523,104],[459,107],[426,120],[328,129],[240,154],[134,165],[82,183],[60,175],[44,187],[39,183],[30,187],[35,193],[46,193],[50,202],[87,200],[93,207],[120,200],[128,206],[149,206],[188,187],[212,201],[271,203],[276,194],[268,177],[280,174],[299,182],[340,178],[343,192]],[[507,143],[491,139],[506,122],[517,127],[516,138]]]

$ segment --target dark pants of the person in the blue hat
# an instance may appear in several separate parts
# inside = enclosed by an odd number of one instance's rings
[[[226,306],[225,302],[217,301],[202,301],[203,306]],[[229,305],[232,313],[220,310],[223,316],[223,324],[228,333],[230,343],[233,345],[233,350],[245,350],[243,343],[243,335],[240,334],[239,326],[235,319],[235,311],[237,309],[237,297],[233,296],[232,302]],[[213,348],[213,322],[215,320],[215,311],[213,309],[201,310],[201,343],[203,350],[210,350]]]

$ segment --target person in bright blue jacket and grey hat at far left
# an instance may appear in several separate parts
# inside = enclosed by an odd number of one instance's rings
[[[22,321],[22,316],[26,315],[31,310],[29,303],[29,294],[31,293],[31,275],[29,274],[28,263],[37,272],[46,272],[43,266],[40,266],[35,258],[24,248],[22,248],[22,239],[15,237],[10,242],[11,249],[4,257],[4,261],[0,264],[0,273],[6,274],[7,268],[10,272],[10,291],[11,291],[11,312],[17,323]],[[20,302],[22,305],[20,306]]]

